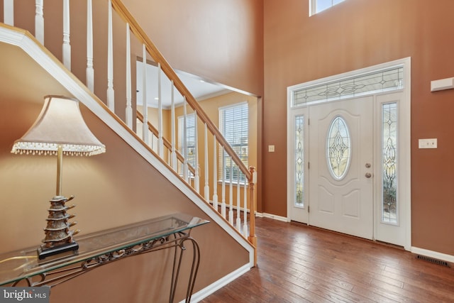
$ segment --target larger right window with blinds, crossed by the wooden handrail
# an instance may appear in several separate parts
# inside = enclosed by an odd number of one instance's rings
[[[226,141],[236,151],[246,167],[248,166],[249,137],[248,104],[236,104],[219,109],[219,129]],[[226,182],[244,183],[245,176],[227,153],[219,150],[219,177]]]

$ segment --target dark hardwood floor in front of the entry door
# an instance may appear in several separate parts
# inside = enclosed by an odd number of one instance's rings
[[[214,302],[454,302],[454,269],[401,248],[257,218],[258,266]]]

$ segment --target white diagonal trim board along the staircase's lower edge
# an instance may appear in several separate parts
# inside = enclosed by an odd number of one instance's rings
[[[114,115],[107,111],[107,107],[104,104],[100,104],[94,98],[92,92],[84,86],[77,78],[75,78],[69,71],[67,71],[57,58],[48,52],[42,45],[36,40],[31,34],[26,31],[12,28],[9,26],[0,26],[0,43],[9,43],[16,45],[21,48],[24,52],[30,55],[35,62],[37,62],[49,75],[54,77],[57,82],[62,84],[65,89],[71,92],[76,99],[87,108],[92,111],[96,116],[101,119],[106,126],[109,126],[115,133],[118,134],[128,145],[141,155],[147,162],[149,162],[156,170],[158,170],[164,177],[167,178],[189,199],[199,206],[204,213],[209,216],[212,221],[221,226],[232,238],[240,243],[245,250],[249,253],[249,265],[254,266],[254,248],[253,246],[240,235],[236,229],[228,224],[226,220],[221,218],[218,213],[209,205],[204,202],[192,189],[187,186],[181,178],[177,177],[167,165],[163,164],[157,156],[150,152],[148,147],[144,145],[131,131],[128,129],[125,123],[121,123],[118,119],[114,118]]]

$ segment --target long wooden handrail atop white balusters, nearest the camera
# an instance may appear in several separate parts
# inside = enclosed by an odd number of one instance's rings
[[[228,155],[231,156],[233,162],[235,162],[236,165],[238,165],[238,167],[240,168],[241,172],[243,172],[246,179],[248,179],[251,182],[253,176],[251,172],[248,170],[248,167],[244,165],[243,161],[241,161],[238,154],[235,152],[235,150],[233,150],[231,145],[223,137],[221,131],[219,131],[216,125],[213,123],[213,121],[209,119],[209,116],[201,108],[201,106],[196,101],[194,96],[192,96],[191,92],[189,92],[187,87],[183,84],[182,80],[179,79],[175,70],[173,70],[173,68],[170,66],[167,60],[165,60],[165,57],[162,56],[159,50],[157,50],[156,46],[150,40],[150,38],[148,38],[148,35],[145,33],[145,31],[143,31],[143,29],[138,25],[138,22],[131,15],[128,9],[126,9],[126,6],[124,6],[121,0],[111,1],[113,9],[118,13],[118,15],[123,19],[123,21],[129,23],[129,28],[134,33],[135,37],[138,38],[138,40],[140,40],[140,42],[145,45],[145,49],[148,51],[151,57],[153,57],[153,60],[155,60],[155,62],[160,63],[162,72],[164,72],[165,75],[167,75],[167,77],[170,80],[173,80],[175,87],[177,88],[179,93],[182,94],[182,96],[186,97],[189,106],[191,106],[192,109],[194,109],[194,111],[197,111],[197,116],[199,116],[201,121],[206,123],[206,126],[209,128],[211,133],[213,133],[214,136],[216,136],[218,143],[221,144],[221,146],[223,146],[224,150],[226,150]]]

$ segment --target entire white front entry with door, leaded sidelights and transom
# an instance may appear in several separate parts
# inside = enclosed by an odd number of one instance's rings
[[[287,219],[411,249],[410,58],[287,88]]]

